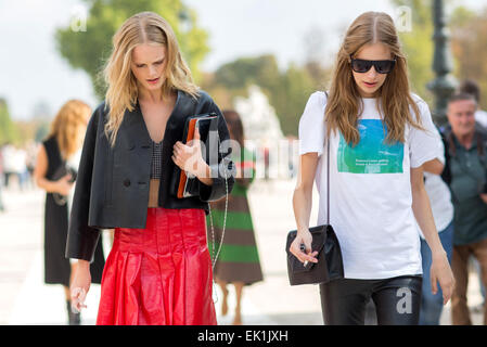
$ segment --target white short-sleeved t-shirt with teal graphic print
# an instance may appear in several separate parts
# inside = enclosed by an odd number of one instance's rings
[[[338,131],[330,141],[330,223],[335,230],[347,279],[387,279],[421,274],[420,237],[412,213],[410,168],[436,157],[439,134],[427,104],[413,95],[427,131],[406,127],[406,143],[384,143],[385,124],[375,99],[363,99],[360,142],[351,147]],[[318,224],[326,222],[324,107],[315,92],[299,120],[299,154],[319,155],[316,183]]]

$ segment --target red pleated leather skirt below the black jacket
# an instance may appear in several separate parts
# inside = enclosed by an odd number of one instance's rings
[[[145,229],[115,229],[97,324],[215,325],[203,209],[148,208]]]

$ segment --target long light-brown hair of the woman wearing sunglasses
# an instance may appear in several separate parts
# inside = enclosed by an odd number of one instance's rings
[[[420,110],[410,93],[407,61],[393,18],[383,12],[366,12],[354,21],[346,33],[337,54],[325,108],[328,133],[339,130],[347,143],[354,145],[360,141],[357,123],[363,102],[354,80],[350,56],[363,46],[377,42],[388,47],[396,59],[396,65],[380,88],[377,98],[377,108],[387,127],[386,141],[403,143],[406,124],[423,129]],[[415,113],[415,119],[409,106]]]

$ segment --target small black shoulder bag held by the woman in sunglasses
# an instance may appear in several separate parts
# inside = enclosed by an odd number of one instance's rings
[[[290,247],[296,237],[296,230],[287,233],[287,275],[291,285],[320,284],[332,280],[343,279],[344,268],[342,250],[333,227],[330,224],[309,228],[312,235],[311,249],[318,250],[318,262],[300,262]]]

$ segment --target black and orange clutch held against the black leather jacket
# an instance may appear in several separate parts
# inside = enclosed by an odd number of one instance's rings
[[[184,124],[182,143],[185,144],[193,140],[196,128],[200,130],[200,140],[205,144],[202,144],[203,158],[209,165],[209,159],[215,155],[217,155],[218,159],[219,134],[217,114],[210,113],[188,117]],[[170,182],[170,194],[178,198],[183,198],[196,196],[198,191],[200,183],[197,178],[189,177],[184,170],[175,165]]]

